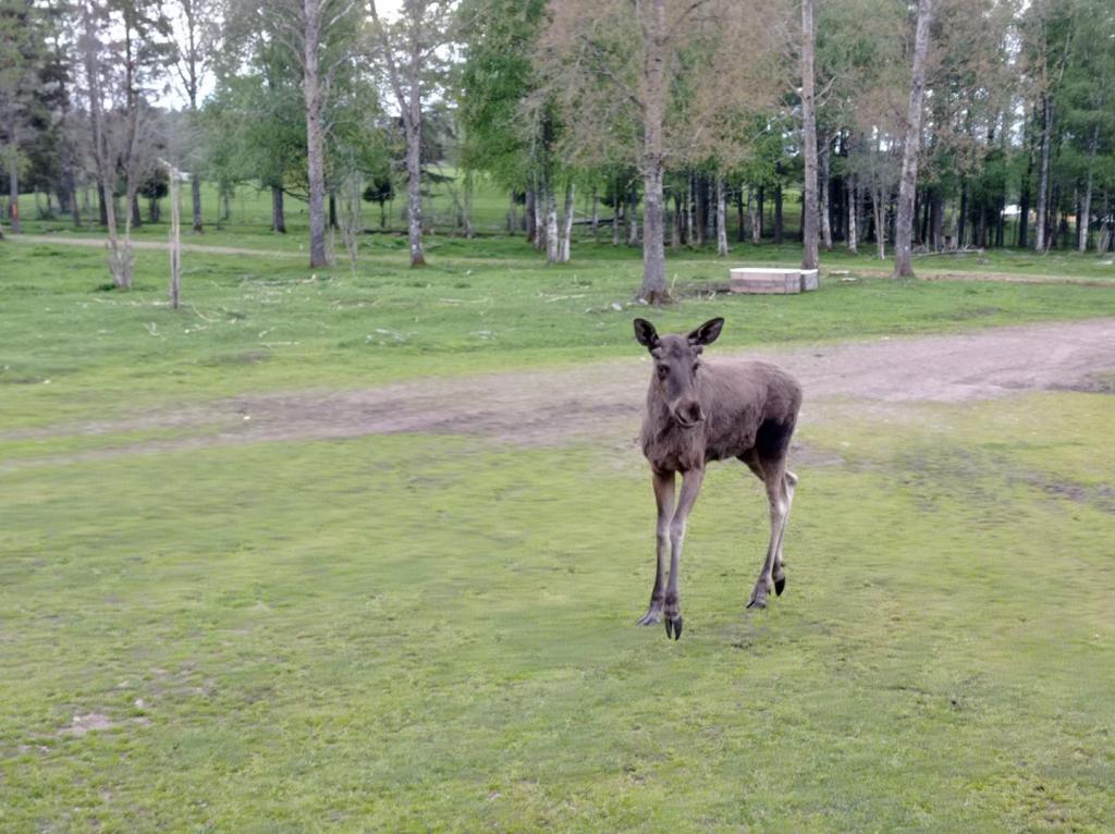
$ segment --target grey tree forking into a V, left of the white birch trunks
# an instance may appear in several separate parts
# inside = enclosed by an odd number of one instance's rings
[[[449,39],[452,0],[405,0],[398,21],[381,20],[369,0],[378,57],[399,108],[406,137],[407,236],[410,265],[423,266],[421,134],[423,103],[436,88],[432,77],[438,49]]]

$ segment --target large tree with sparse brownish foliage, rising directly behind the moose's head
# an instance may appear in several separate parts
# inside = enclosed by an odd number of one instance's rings
[[[738,119],[766,104],[769,91],[754,79],[782,46],[783,21],[759,0],[634,0],[633,8],[622,0],[568,0],[550,10],[540,54],[570,119],[566,145],[573,158],[600,148],[638,166],[639,298],[662,303],[667,164],[711,155],[706,148],[720,147],[721,130],[738,135]],[[775,25],[756,26],[760,18]]]

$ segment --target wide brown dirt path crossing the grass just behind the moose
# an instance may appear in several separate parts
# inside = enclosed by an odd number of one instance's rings
[[[181,429],[188,435],[109,449],[9,460],[2,469],[164,449],[266,440],[360,437],[400,431],[471,435],[524,445],[584,437],[630,438],[638,430],[649,361],[556,371],[418,379],[357,390],[251,395],[152,410],[113,421],[0,434],[0,439]],[[1028,389],[1088,389],[1115,370],[1115,319],[999,328],[971,333],[748,351],[721,356],[774,361],[806,391],[803,421],[846,408],[903,401],[961,401]]]

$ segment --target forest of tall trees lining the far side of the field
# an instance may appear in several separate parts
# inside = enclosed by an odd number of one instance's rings
[[[311,265],[361,203],[472,235],[483,180],[547,261],[574,223],[665,251],[729,239],[909,252],[1115,246],[1107,0],[0,0],[4,231],[18,195],[103,229],[116,284],[171,177],[205,231],[304,203]],[[798,198],[801,195],[801,198]],[[25,201],[26,203],[27,201]],[[581,206],[579,215],[578,206]],[[22,206],[28,211],[28,206]],[[794,214],[794,223],[786,217]],[[815,255],[814,255],[815,259]]]

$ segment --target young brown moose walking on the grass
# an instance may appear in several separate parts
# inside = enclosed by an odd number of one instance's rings
[[[802,407],[802,387],[766,362],[702,361],[702,349],[716,341],[723,327],[724,319],[717,318],[688,336],[660,337],[649,321],[634,320],[636,339],[655,360],[641,442],[658,503],[655,588],[639,624],[661,622],[665,615],[666,633],[675,640],[682,627],[678,565],[686,518],[709,460],[739,458],[766,487],[770,543],[747,607],[765,608],[770,590],[780,595],[786,586],[782,540],[797,485],[797,476],[786,469],[786,454]],[[681,493],[675,504],[677,473]],[[663,584],[667,553],[670,571]]]

